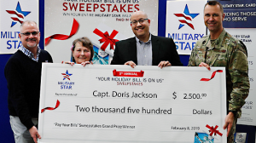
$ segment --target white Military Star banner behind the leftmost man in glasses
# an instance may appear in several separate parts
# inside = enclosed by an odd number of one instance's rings
[[[38,23],[38,0],[0,2],[0,54],[14,54],[20,48],[20,24],[25,20]]]

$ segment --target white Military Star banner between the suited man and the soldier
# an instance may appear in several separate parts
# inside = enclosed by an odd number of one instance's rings
[[[178,54],[190,54],[196,41],[206,35],[205,3],[206,0],[167,1],[166,37],[172,37]]]

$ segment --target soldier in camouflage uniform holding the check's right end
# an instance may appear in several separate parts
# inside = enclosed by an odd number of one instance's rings
[[[226,69],[227,108],[224,129],[228,143],[234,142],[237,118],[249,94],[247,49],[243,43],[224,30],[224,11],[220,3],[209,1],[204,9],[205,25],[210,35],[195,44],[188,66],[224,66]]]

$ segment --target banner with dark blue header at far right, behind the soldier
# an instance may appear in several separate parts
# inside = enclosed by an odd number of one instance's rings
[[[248,66],[250,78],[250,93],[247,97],[246,104],[241,108],[241,118],[238,124],[247,124],[256,126],[256,108],[253,103],[256,102],[255,82],[255,39],[256,39],[256,3],[252,0],[238,1],[220,1],[224,6],[224,27],[233,36],[241,40],[247,46]]]

